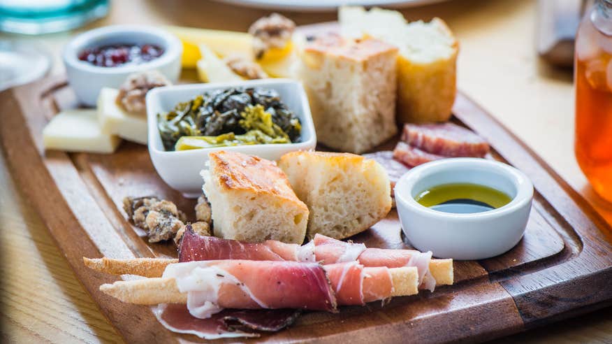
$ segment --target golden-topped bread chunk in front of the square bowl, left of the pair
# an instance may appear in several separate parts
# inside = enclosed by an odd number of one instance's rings
[[[238,152],[210,152],[202,171],[214,236],[248,242],[303,243],[308,208],[274,162]]]

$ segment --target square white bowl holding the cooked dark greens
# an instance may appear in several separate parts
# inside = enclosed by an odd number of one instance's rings
[[[289,107],[302,124],[300,142],[275,143],[266,145],[235,145],[198,150],[166,151],[157,129],[157,114],[167,113],[177,103],[189,101],[198,94],[213,89],[228,87],[263,87],[275,89],[281,100]],[[149,154],[153,166],[166,184],[194,198],[202,194],[203,180],[200,171],[205,169],[208,153],[216,150],[242,152],[264,159],[278,160],[282,155],[294,150],[310,150],[316,145],[316,134],[306,92],[302,84],[286,79],[245,80],[233,83],[208,83],[196,85],[175,85],[156,87],[147,92],[147,125],[149,131]]]

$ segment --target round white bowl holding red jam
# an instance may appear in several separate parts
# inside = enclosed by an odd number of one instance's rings
[[[143,64],[116,67],[94,66],[81,61],[78,55],[86,48],[109,44],[154,44],[163,48],[163,54]],[[119,88],[126,77],[135,72],[156,69],[175,83],[181,71],[182,43],[173,34],[156,27],[114,25],[101,27],[73,38],[63,52],[68,83],[81,103],[95,106],[102,87]]]

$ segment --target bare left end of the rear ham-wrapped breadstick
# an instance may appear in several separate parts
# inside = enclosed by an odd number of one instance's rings
[[[166,258],[135,258],[112,259],[83,257],[88,268],[112,275],[139,275],[143,277],[161,277],[168,264],[178,263],[178,259]]]

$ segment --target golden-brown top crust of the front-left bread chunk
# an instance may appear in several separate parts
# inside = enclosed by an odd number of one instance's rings
[[[285,173],[274,162],[223,150],[210,152],[208,157],[211,178],[218,178],[221,189],[279,196],[307,209],[291,189]]]

